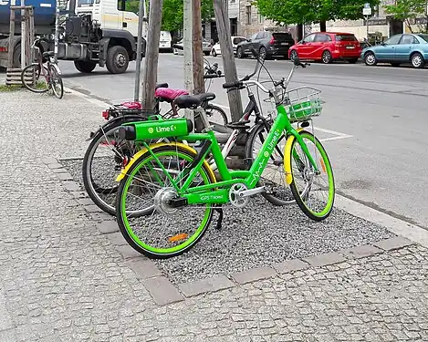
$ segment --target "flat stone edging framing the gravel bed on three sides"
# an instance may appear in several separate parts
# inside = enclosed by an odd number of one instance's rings
[[[68,171],[60,164],[60,160],[48,158],[43,160],[58,181],[70,192],[78,204],[82,205],[89,217],[96,221],[100,234],[105,235],[110,243],[115,245],[123,259],[130,265],[132,271],[141,280],[141,284],[150,293],[158,306],[165,306],[183,301],[195,295],[204,295],[221,291],[236,285],[244,285],[278,275],[295,273],[308,268],[329,267],[333,264],[342,264],[350,260],[366,258],[377,254],[388,253],[402,249],[412,244],[422,244],[428,247],[428,232],[410,223],[402,222],[386,213],[378,212],[358,202],[337,195],[336,207],[350,214],[363,218],[371,223],[385,226],[397,236],[360,245],[349,249],[339,250],[328,254],[318,254],[303,259],[287,260],[272,267],[259,267],[235,273],[230,276],[216,275],[204,280],[172,285],[170,280],[162,275],[162,271],[150,259],[133,250],[120,233],[115,217],[102,212],[88,197],[88,194],[77,181],[70,181]],[[408,230],[412,230],[408,232]]]

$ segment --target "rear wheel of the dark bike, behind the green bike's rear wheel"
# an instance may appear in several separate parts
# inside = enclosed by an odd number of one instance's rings
[[[90,141],[83,158],[82,176],[85,190],[99,208],[116,214],[116,177],[137,148],[133,141],[120,140],[118,130],[125,122],[136,121],[136,117],[124,117],[104,126]]]

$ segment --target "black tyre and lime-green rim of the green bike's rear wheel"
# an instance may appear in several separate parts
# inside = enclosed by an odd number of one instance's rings
[[[128,242],[128,244],[130,244],[130,246],[133,249],[135,249],[137,252],[141,254],[148,256],[151,259],[167,259],[173,256],[183,254],[185,252],[188,252],[195,244],[197,244],[201,240],[201,238],[204,236],[204,233],[206,232],[207,228],[211,223],[214,209],[210,204],[205,204],[204,218],[202,219],[202,223],[199,224],[198,228],[195,230],[195,233],[190,235],[190,238],[186,240],[186,242],[184,243],[180,243],[172,247],[159,248],[159,247],[154,247],[145,241],[142,242],[141,237],[137,236],[137,233],[132,231],[132,227],[130,226],[130,223],[128,221],[127,212],[130,212],[130,211],[128,211],[128,208],[126,208],[126,204],[127,204],[126,197],[128,194],[128,190],[130,189],[130,182],[133,180],[135,174],[137,174],[138,172],[139,177],[141,177],[141,173],[140,173],[141,169],[145,167],[145,165],[148,164],[153,159],[153,155],[156,155],[156,157],[159,159],[162,159],[162,156],[168,156],[168,155],[172,156],[173,158],[180,157],[180,158],[183,158],[184,161],[189,162],[190,164],[192,164],[192,162],[197,158],[197,152],[195,150],[185,148],[183,145],[174,144],[174,143],[162,144],[161,146],[153,148],[151,152],[147,151],[146,153],[142,154],[138,158],[138,160],[132,164],[132,166],[130,167],[130,171],[127,172],[125,177],[120,181],[120,186],[116,197],[117,199],[116,217],[120,227],[120,233],[123,235],[125,240]],[[151,167],[150,169],[152,170]],[[204,161],[204,164],[200,169],[200,172],[201,172],[200,174],[202,176],[202,180],[205,182],[205,184],[215,182],[214,173],[210,169],[206,161]],[[140,178],[137,178],[137,181],[140,181]],[[162,189],[165,189],[165,188],[162,188]],[[131,198],[133,199],[133,197]],[[198,207],[193,207],[193,206],[189,206],[187,208],[192,208],[192,213],[195,209],[198,209]],[[177,235],[183,235],[183,233],[180,233],[180,232],[185,232],[188,229],[188,226],[190,225],[190,223],[193,222],[193,220],[191,220],[188,215],[182,215],[182,216],[183,216],[185,228],[179,229],[174,227],[172,229],[172,232],[174,234],[172,235],[172,237],[175,237]],[[144,224],[138,223],[139,228],[142,228],[143,225],[145,225],[145,223],[150,223],[151,219],[153,218],[152,215],[150,216],[141,215],[140,217],[143,217],[143,220],[145,220],[145,222]],[[158,224],[158,226],[162,227],[162,230],[161,230],[162,233],[170,229],[172,227],[172,224],[179,224],[178,220],[177,221],[172,220],[173,223],[166,223],[166,224],[162,223],[161,221],[162,219],[165,219],[165,217],[168,217],[168,215],[167,214],[166,216],[161,215],[155,218],[155,224]],[[153,232],[153,229],[141,229],[138,233],[148,233],[148,232]],[[189,236],[189,234],[187,233],[184,233],[184,234],[185,236]],[[172,244],[171,243],[172,237],[170,236],[169,238],[166,238],[165,241],[163,241],[163,239],[159,237],[159,235],[156,235],[155,243],[169,241],[170,244]]]

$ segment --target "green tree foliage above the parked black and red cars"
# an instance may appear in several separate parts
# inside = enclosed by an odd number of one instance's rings
[[[362,18],[365,3],[379,5],[379,0],[256,0],[262,16],[277,23],[319,23],[329,20]]]

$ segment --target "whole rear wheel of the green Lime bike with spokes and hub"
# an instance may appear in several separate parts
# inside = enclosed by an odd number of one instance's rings
[[[179,197],[171,179],[180,177],[180,186],[188,177],[197,155],[193,149],[171,143],[151,152],[141,155],[120,181],[116,217],[120,233],[132,248],[150,258],[164,259],[187,252],[203,237],[213,208],[212,204],[180,208],[171,204],[173,198]],[[214,173],[205,161],[191,187],[213,182]],[[154,207],[153,212],[139,212],[148,203]]]

